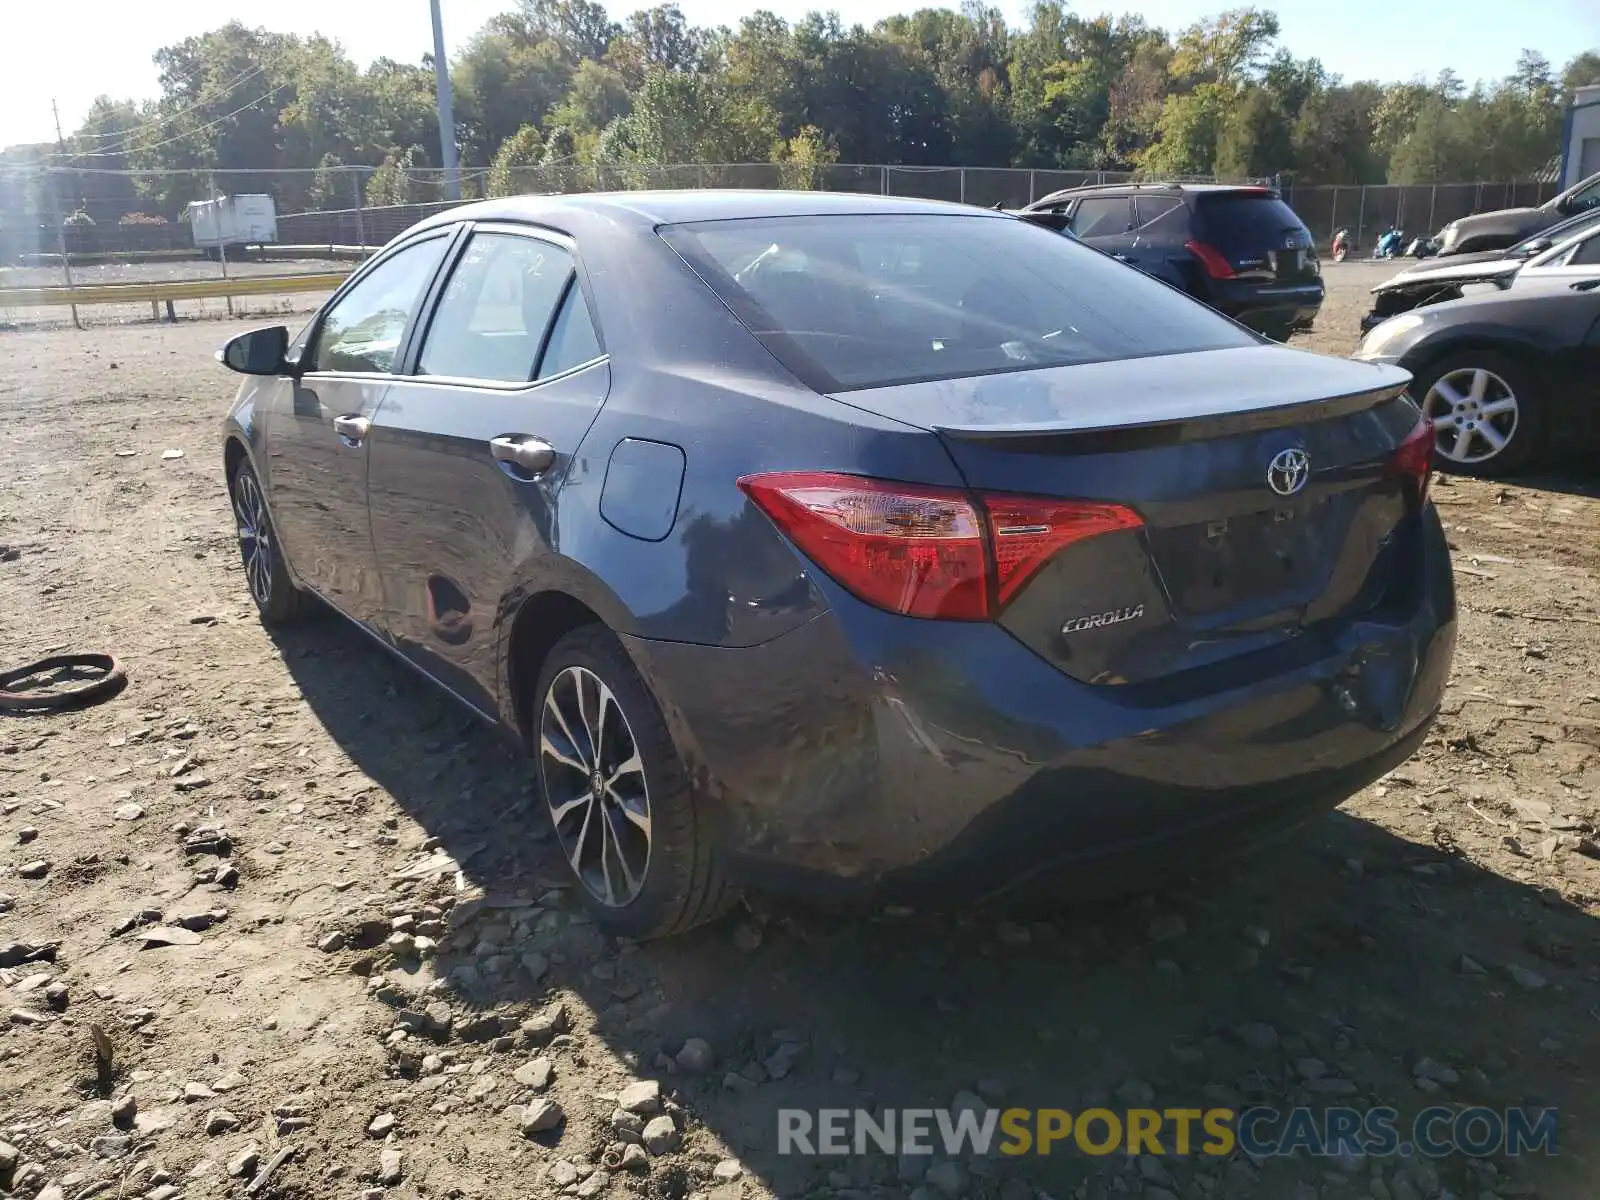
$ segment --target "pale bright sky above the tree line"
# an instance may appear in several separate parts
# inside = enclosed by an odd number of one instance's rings
[[[699,24],[738,24],[755,5],[734,0],[680,0]],[[1080,13],[1142,13],[1168,29],[1190,24],[1238,0],[1146,0],[1142,5],[1082,0]],[[443,0],[445,37],[459,45],[509,0]],[[638,0],[613,3],[619,16]],[[818,3],[771,0],[765,5],[797,18]],[[821,5],[826,6],[826,5]],[[846,22],[872,21],[914,3],[854,0],[837,5]],[[1346,78],[1432,77],[1453,67],[1466,80],[1504,75],[1523,46],[1560,66],[1573,54],[1600,48],[1600,0],[1280,0],[1259,3],[1278,14],[1282,43],[1294,54],[1317,56]],[[0,147],[54,138],[50,101],[61,106],[67,133],[99,93],[152,96],[157,91],[150,54],[163,45],[238,18],[278,30],[320,30],[358,59],[418,59],[430,46],[427,0],[90,0],[46,5],[0,0],[5,50],[0,70]],[[1003,0],[1008,19],[1026,10]],[[72,27],[62,29],[62,16]]]

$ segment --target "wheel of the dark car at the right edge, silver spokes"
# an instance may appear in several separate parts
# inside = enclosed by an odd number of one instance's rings
[[[1434,421],[1434,464],[1499,478],[1544,446],[1546,392],[1538,373],[1498,350],[1461,350],[1418,373],[1411,395]]]

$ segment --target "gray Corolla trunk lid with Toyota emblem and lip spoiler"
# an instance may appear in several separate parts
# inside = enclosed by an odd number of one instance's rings
[[[1403,371],[1278,347],[901,384],[837,398],[938,432],[978,493],[1110,501],[1000,622],[1096,683],[1176,675],[1382,598],[1408,512]],[[1003,536],[1003,531],[997,531]]]

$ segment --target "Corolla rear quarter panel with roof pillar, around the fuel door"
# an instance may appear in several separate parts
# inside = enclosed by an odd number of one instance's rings
[[[595,234],[578,243],[611,390],[562,485],[552,581],[640,638],[749,646],[813,619],[822,595],[739,477],[814,469],[958,485],[955,466],[933,434],[794,379],[654,232]],[[682,480],[659,482],[678,493],[664,536],[635,536],[616,506],[606,517],[606,474],[627,438],[682,450]]]

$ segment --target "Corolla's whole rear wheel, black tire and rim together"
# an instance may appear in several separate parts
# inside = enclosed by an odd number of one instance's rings
[[[544,659],[533,698],[538,790],[595,925],[643,941],[726,910],[736,893],[704,805],[616,637],[597,624],[566,634]],[[608,784],[597,789],[600,779]]]

